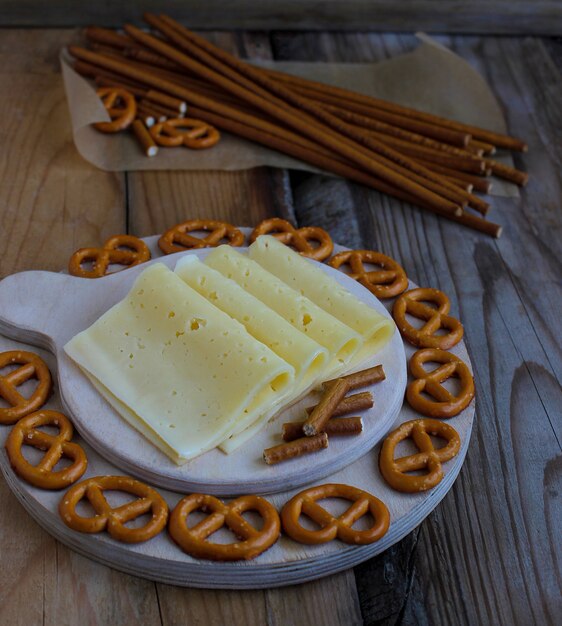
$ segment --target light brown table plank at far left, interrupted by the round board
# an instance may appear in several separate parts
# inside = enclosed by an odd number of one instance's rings
[[[0,278],[59,271],[71,252],[125,228],[124,176],[72,142],[59,73],[73,30],[0,30]],[[56,543],[0,481],[0,623],[158,623],[154,585]]]

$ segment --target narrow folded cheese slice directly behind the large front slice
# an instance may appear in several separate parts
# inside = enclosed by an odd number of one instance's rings
[[[291,326],[238,283],[205,265],[194,254],[182,257],[175,273],[216,307],[239,321],[258,341],[295,369],[295,393],[309,387],[328,364],[328,350]]]

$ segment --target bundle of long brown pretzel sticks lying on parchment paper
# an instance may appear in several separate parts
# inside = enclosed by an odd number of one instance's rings
[[[170,17],[145,14],[155,34],[92,27],[92,50],[71,46],[96,80],[158,90],[188,114],[316,167],[499,237],[485,216],[488,176],[525,185],[527,174],[490,158],[527,145],[338,87],[245,63]],[[92,69],[94,68],[94,69]],[[479,213],[480,215],[478,215]]]

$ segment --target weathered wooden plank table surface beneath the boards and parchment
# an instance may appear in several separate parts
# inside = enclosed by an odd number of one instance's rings
[[[411,35],[212,33],[242,56],[374,61]],[[381,556],[285,589],[183,589],[121,574],[45,533],[0,479],[0,624],[554,624],[560,619],[562,43],[439,37],[488,80],[529,142],[518,199],[493,199],[490,239],[342,180],[310,173],[107,173],[70,132],[60,48],[77,30],[0,30],[0,277],[58,271],[78,247],[189,217],[252,225],[280,215],[385,252],[460,313],[477,421],[452,491]],[[556,618],[558,615],[558,618]],[[558,623],[560,623],[558,621]]]

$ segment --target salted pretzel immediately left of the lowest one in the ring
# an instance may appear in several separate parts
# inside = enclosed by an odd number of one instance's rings
[[[112,508],[104,491],[123,491],[138,496],[136,500]],[[76,507],[82,499],[88,500],[95,511],[93,517],[82,517]],[[128,476],[96,476],[71,487],[59,502],[59,513],[64,523],[81,533],[99,533],[104,530],[117,541],[140,543],[155,537],[166,526],[168,505],[152,487]],[[150,520],[140,528],[125,524],[141,515]]]

